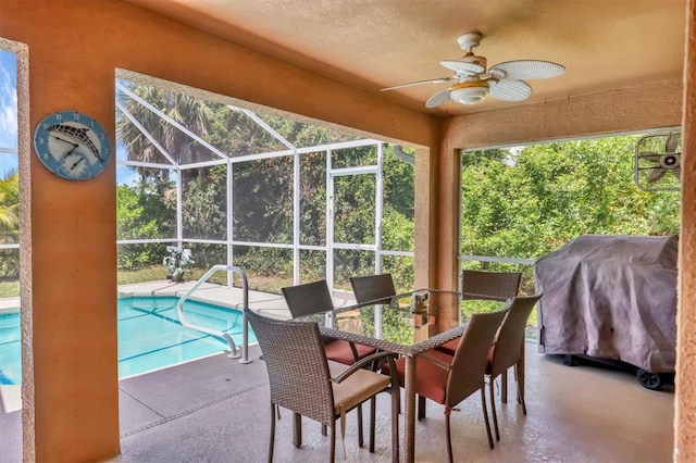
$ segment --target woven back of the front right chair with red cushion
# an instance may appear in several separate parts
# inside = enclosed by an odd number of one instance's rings
[[[449,371],[445,406],[455,406],[484,387],[488,350],[507,313],[502,309],[471,315]]]

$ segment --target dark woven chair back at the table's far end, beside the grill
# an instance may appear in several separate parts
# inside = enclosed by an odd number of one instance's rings
[[[487,299],[507,301],[518,296],[520,290],[519,272],[480,272],[463,271],[461,292],[464,299]]]

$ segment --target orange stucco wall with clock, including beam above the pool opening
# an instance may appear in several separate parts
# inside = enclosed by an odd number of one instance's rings
[[[120,68],[381,134],[419,146],[426,157],[437,148],[438,121],[427,115],[120,1],[3,0],[0,36],[28,50],[28,91],[20,103],[27,122],[20,130],[20,163],[28,461],[120,452],[115,163],[87,182],[50,174],[32,147],[42,117],[79,110],[113,140]],[[427,168],[427,158],[419,163]],[[428,180],[420,186],[430,188]],[[431,221],[420,222],[421,240],[430,241]]]

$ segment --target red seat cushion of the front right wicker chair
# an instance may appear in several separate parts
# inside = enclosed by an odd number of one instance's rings
[[[443,351],[431,349],[415,358],[415,393],[426,397],[437,403],[445,403],[445,392],[447,388],[447,377],[449,372],[423,355],[437,359],[446,364],[451,364],[453,356]],[[406,358],[400,358],[395,362],[396,374],[399,386],[405,387],[403,376],[406,371]],[[389,364],[384,364],[382,373],[389,374]]]

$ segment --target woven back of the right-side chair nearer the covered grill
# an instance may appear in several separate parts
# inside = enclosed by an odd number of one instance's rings
[[[542,293],[518,296],[507,304],[508,315],[500,325],[490,354],[488,373],[492,376],[498,376],[521,360],[526,321],[540,297]]]

